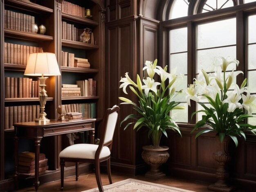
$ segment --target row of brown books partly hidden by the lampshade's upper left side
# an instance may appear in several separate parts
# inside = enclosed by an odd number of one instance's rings
[[[43,52],[43,47],[4,42],[4,63],[27,65],[29,54]]]

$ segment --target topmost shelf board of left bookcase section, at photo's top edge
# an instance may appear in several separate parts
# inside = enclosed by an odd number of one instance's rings
[[[53,13],[53,9],[32,2],[22,0],[5,0],[4,3],[6,6],[15,7],[33,13]]]

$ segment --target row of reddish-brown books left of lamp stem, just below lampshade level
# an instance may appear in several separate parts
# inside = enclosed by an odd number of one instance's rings
[[[5,78],[5,98],[34,98],[39,96],[39,80],[24,77]]]

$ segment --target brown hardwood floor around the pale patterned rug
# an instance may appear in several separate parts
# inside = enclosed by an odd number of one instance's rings
[[[143,181],[148,181],[148,182],[153,182],[153,183],[159,183],[162,185],[168,185],[172,187],[177,187],[177,188],[182,188],[186,190],[192,190],[195,192],[207,192],[207,186],[209,183],[201,183],[197,181],[189,181],[185,179],[176,179],[170,176],[166,176],[163,179],[158,179],[158,180],[152,180],[152,179],[147,179],[143,175],[139,176],[126,176],[123,174],[118,174],[118,173],[112,173],[112,181],[113,183],[117,181],[122,181],[128,178],[132,179],[138,179],[138,180],[143,180]],[[102,184],[103,188],[104,185],[108,185],[108,175],[103,173],[101,174],[101,179],[102,179]],[[60,180],[58,181],[53,181],[51,183],[46,183],[43,185],[39,186],[38,192],[54,192],[54,191],[61,191],[60,190],[60,185],[61,182]],[[92,188],[96,188],[97,183],[95,179],[95,174],[90,173],[90,174],[81,174],[79,175],[78,181],[75,180],[75,176],[71,177],[66,177],[64,179],[64,190],[63,192],[81,192],[84,190],[89,190]],[[34,187],[29,187],[29,188],[24,188],[21,190],[16,190],[17,192],[31,192],[34,191]]]

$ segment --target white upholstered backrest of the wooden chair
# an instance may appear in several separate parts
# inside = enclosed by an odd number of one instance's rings
[[[103,134],[101,135],[103,138],[100,138],[100,143],[101,141],[103,141],[103,145],[109,143],[113,139],[119,109],[120,108],[117,105],[114,105],[111,109],[107,109],[104,114],[102,127],[104,130],[100,130],[103,132]]]

